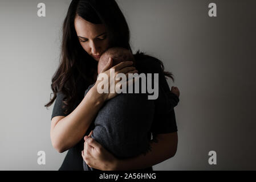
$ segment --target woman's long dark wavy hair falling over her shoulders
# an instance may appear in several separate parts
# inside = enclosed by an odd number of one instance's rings
[[[97,71],[97,61],[94,60],[80,45],[75,31],[75,16],[82,17],[87,22],[104,24],[109,36],[109,47],[123,47],[130,51],[129,27],[115,0],[72,0],[63,22],[62,47],[60,64],[51,80],[53,97],[45,107],[49,107],[56,99],[56,94],[62,92],[64,113],[70,113],[82,98],[88,86],[94,83]],[[137,51],[136,56],[146,58],[143,52]],[[164,65],[156,59],[164,71]],[[136,60],[137,61],[137,60]],[[164,72],[165,76],[173,79],[172,73]]]

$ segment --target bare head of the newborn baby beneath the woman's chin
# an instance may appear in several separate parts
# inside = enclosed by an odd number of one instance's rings
[[[107,51],[103,53],[103,55],[100,56],[99,63],[97,65],[97,72],[98,74],[101,73],[105,65],[108,63],[108,59],[111,57],[113,59],[113,64],[117,65],[123,61],[135,61],[132,52],[128,49],[122,48],[122,47],[112,47],[109,48]]]

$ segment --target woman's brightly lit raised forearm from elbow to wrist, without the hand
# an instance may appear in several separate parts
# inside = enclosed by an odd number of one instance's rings
[[[72,113],[60,119],[51,130],[52,143],[64,152],[78,143],[91,125],[92,119],[104,104],[103,98],[92,87]]]

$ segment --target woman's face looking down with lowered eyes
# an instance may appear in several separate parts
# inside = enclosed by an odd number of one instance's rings
[[[105,26],[103,24],[87,22],[80,16],[76,16],[75,30],[84,51],[94,57],[96,61],[99,61],[102,53],[109,47]]]

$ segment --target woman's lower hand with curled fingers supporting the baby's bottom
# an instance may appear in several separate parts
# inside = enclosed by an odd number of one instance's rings
[[[109,153],[101,144],[97,143],[90,135],[84,137],[84,150],[82,157],[89,167],[101,171],[115,170],[117,159]]]

